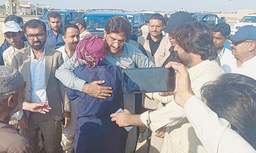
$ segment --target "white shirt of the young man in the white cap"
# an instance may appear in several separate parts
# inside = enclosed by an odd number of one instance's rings
[[[25,44],[25,46],[23,48],[26,48],[26,47],[29,46],[27,41],[23,41],[23,42]],[[20,49],[14,48],[12,46],[10,46],[6,50],[4,50],[4,53],[3,53],[4,65],[11,66],[11,64],[12,64],[12,59],[11,59],[12,53],[14,53],[18,50],[20,50]]]

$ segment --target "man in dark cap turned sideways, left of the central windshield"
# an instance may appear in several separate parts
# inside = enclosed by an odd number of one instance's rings
[[[82,40],[85,36],[90,35],[91,33],[87,30],[87,25],[83,18],[75,18],[74,21],[70,21],[70,23],[73,23],[78,26],[79,28],[79,37],[80,40]]]

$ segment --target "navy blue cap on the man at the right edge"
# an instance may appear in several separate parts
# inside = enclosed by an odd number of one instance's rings
[[[229,40],[234,43],[243,42],[245,40],[256,40],[256,26],[245,25],[242,26],[235,35],[228,36]]]

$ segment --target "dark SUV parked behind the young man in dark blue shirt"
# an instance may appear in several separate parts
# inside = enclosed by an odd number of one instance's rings
[[[70,24],[70,21],[73,21],[77,17],[82,17],[84,15],[84,12],[76,12],[76,10],[52,10],[52,11],[57,11],[60,13],[60,19],[62,26],[66,24]],[[42,20],[45,25],[47,30],[51,29],[51,26],[48,24],[48,14],[51,11],[45,12],[43,17],[39,17],[40,20]]]

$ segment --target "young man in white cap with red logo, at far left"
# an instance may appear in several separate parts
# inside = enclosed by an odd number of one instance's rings
[[[2,26],[3,34],[7,42],[11,45],[3,53],[4,65],[11,66],[12,53],[22,48],[28,47],[28,42],[23,41],[24,32],[21,31],[20,25],[15,21],[7,21]]]

